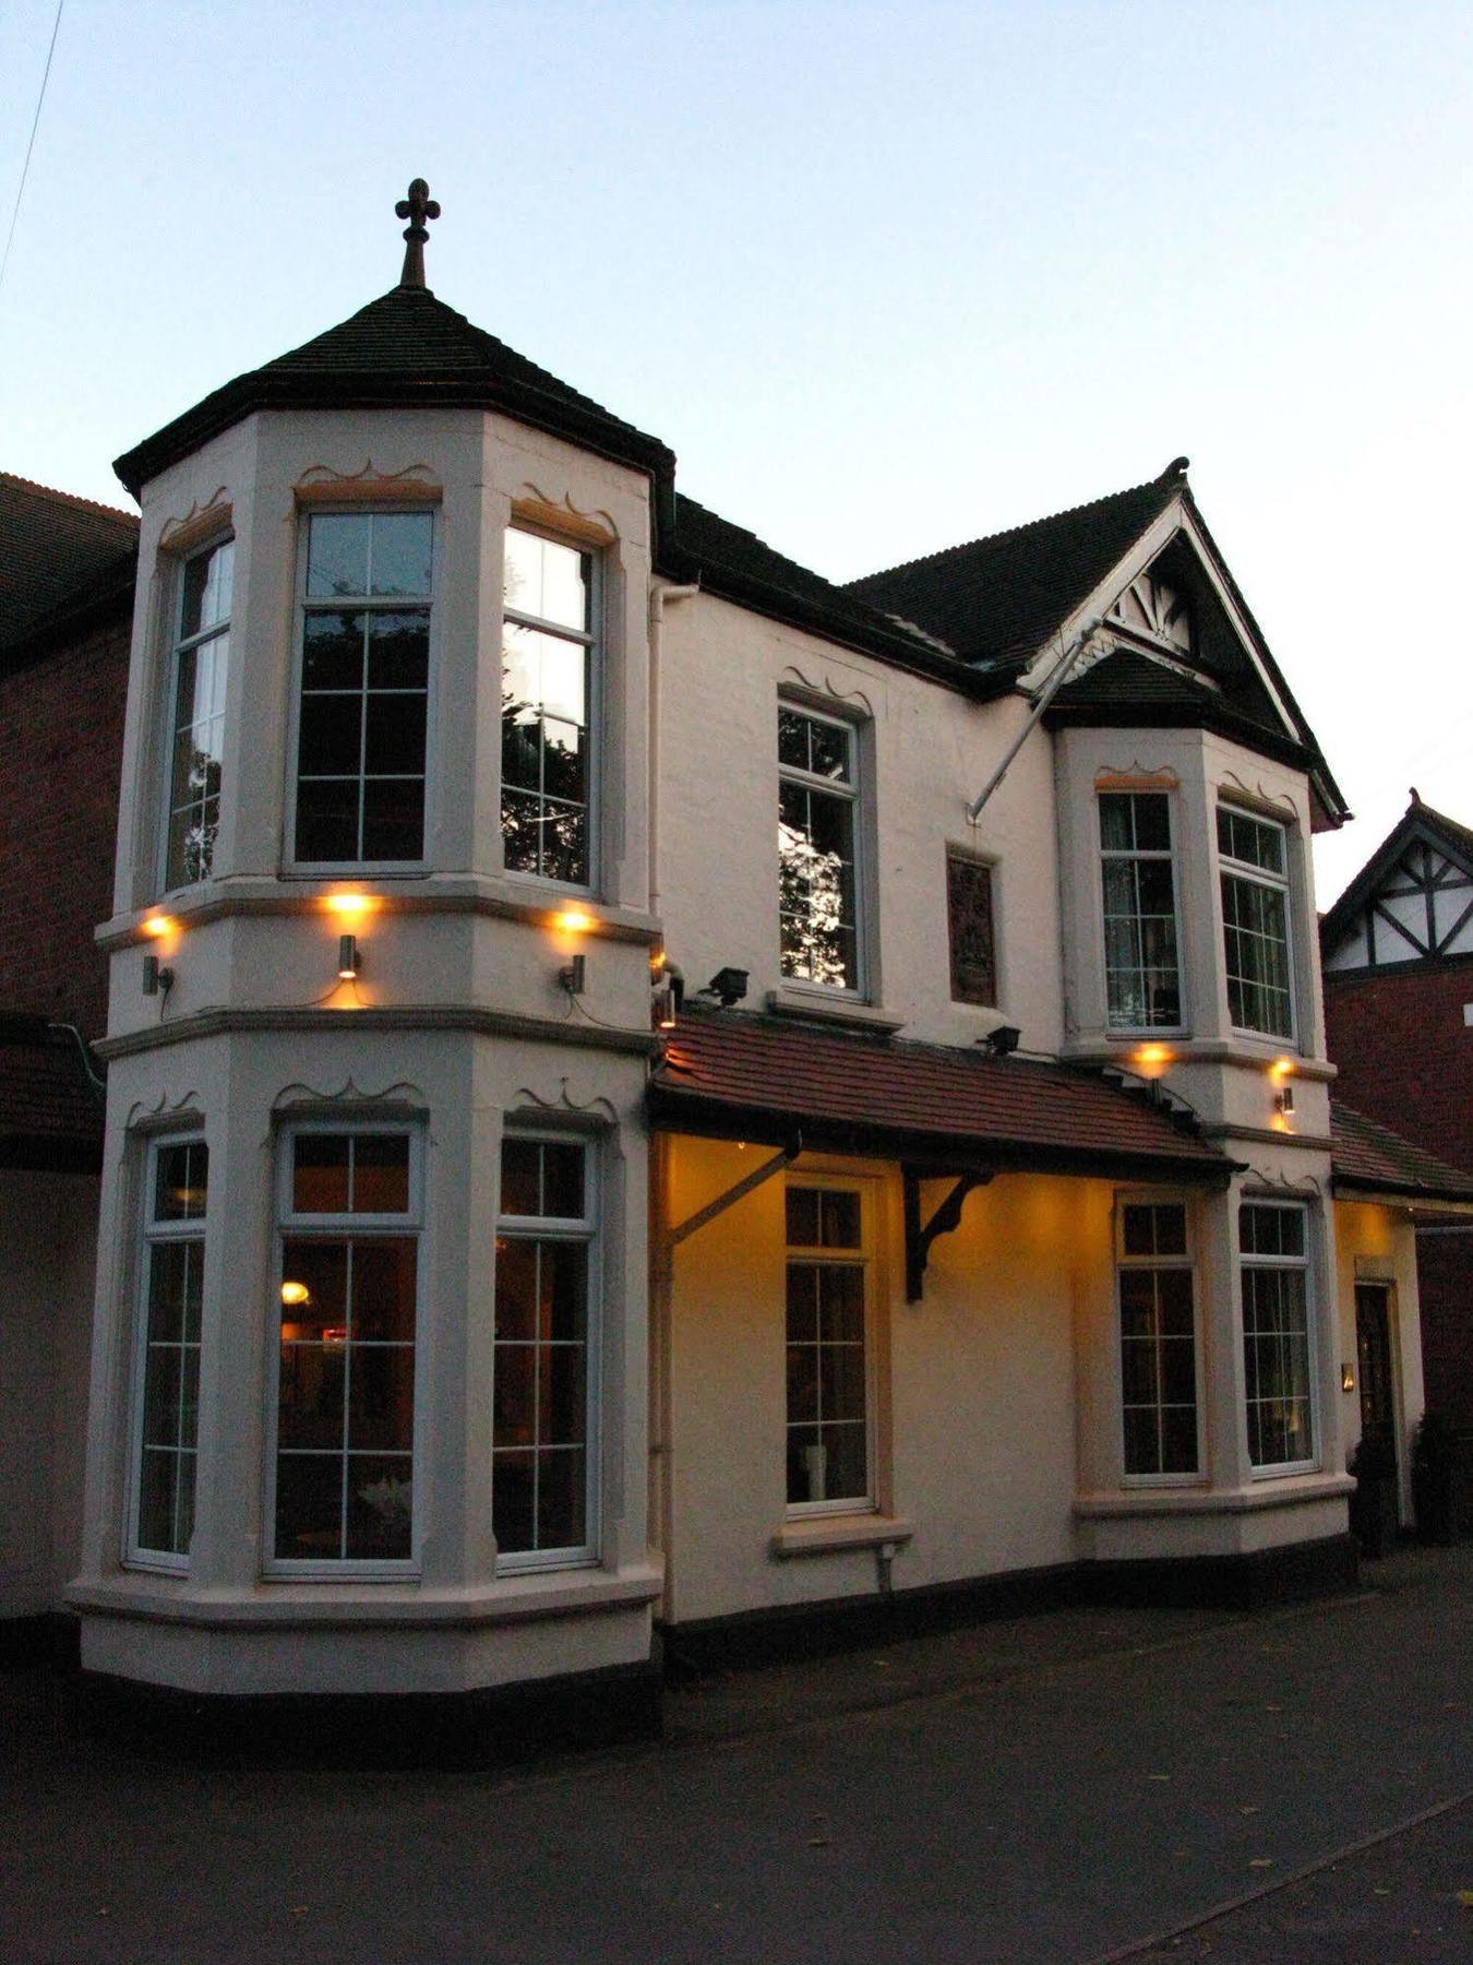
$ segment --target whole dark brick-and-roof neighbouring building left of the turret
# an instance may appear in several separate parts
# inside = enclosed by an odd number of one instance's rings
[[[137,519],[0,472],[0,1619],[77,1562]],[[77,1032],[73,1036],[71,1032]]]

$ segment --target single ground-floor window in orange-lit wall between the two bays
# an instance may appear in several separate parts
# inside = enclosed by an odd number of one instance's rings
[[[786,1193],[788,1515],[878,1507],[874,1197],[793,1177]]]

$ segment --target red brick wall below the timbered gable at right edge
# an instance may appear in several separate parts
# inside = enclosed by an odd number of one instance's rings
[[[1330,973],[1324,1012],[1334,1091],[1416,1146],[1473,1173],[1473,957]]]

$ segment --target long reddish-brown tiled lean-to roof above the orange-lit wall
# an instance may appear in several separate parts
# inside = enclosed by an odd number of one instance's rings
[[[933,1167],[1218,1183],[1231,1161],[1145,1091],[1094,1071],[685,1012],[650,1083],[668,1132],[788,1142]]]

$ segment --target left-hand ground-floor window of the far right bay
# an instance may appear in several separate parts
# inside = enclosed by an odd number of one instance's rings
[[[1202,1338],[1194,1208],[1180,1195],[1116,1205],[1121,1468],[1127,1488],[1202,1480]]]

